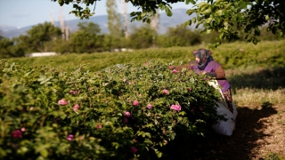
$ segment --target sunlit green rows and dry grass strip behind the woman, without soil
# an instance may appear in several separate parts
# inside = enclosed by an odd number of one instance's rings
[[[269,101],[285,104],[285,40],[261,42],[259,44],[223,44],[213,52],[232,84],[233,100],[238,105],[260,106]],[[54,57],[11,59],[30,67],[47,66],[72,68],[85,65],[90,71],[107,68],[115,64],[148,60],[179,61],[183,64],[193,60],[192,51],[205,45],[192,47],[153,48],[133,52],[100,52],[92,54],[65,54]]]

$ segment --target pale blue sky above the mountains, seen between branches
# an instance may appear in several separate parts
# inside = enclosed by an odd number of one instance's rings
[[[118,12],[120,11],[119,0],[116,0],[118,5]],[[85,8],[85,5],[83,5]],[[183,2],[172,4],[172,9],[186,8],[190,9],[190,4]],[[94,6],[90,7],[93,11]],[[51,0],[0,0],[0,26],[12,26],[16,28],[23,28],[45,21],[59,20],[60,12],[63,13],[64,20],[79,19],[74,14],[69,14],[72,11],[72,4],[64,4],[60,6],[58,2]],[[137,8],[128,3],[127,12],[137,11]],[[107,15],[106,1],[101,0],[96,3],[94,16]]]

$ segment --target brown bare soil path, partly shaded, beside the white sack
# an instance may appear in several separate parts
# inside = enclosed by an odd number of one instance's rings
[[[237,109],[232,136],[211,134],[196,140],[196,154],[189,159],[285,159],[285,106]]]

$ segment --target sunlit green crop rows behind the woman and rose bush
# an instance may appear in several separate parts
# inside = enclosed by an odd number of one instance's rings
[[[20,65],[28,64],[37,67],[45,64],[50,67],[69,68],[85,64],[91,71],[107,68],[115,64],[127,62],[142,63],[147,60],[181,61],[186,64],[194,60],[192,52],[203,46],[153,48],[134,50],[134,52],[94,52],[92,54],[67,54],[52,57],[37,57],[12,59]],[[243,44],[235,42],[224,44],[211,50],[214,60],[217,60],[224,69],[248,67],[274,68],[285,66],[284,40],[260,42],[259,44]]]

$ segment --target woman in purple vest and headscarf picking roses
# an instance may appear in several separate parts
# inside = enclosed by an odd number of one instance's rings
[[[216,77],[217,83],[222,87],[224,99],[227,103],[228,108],[232,112],[232,92],[231,85],[225,79],[224,69],[216,62],[211,56],[211,52],[205,49],[199,49],[192,52],[196,57],[195,62],[191,62],[190,65],[178,66],[176,69],[189,68],[195,70],[197,74],[203,74],[207,76]]]

